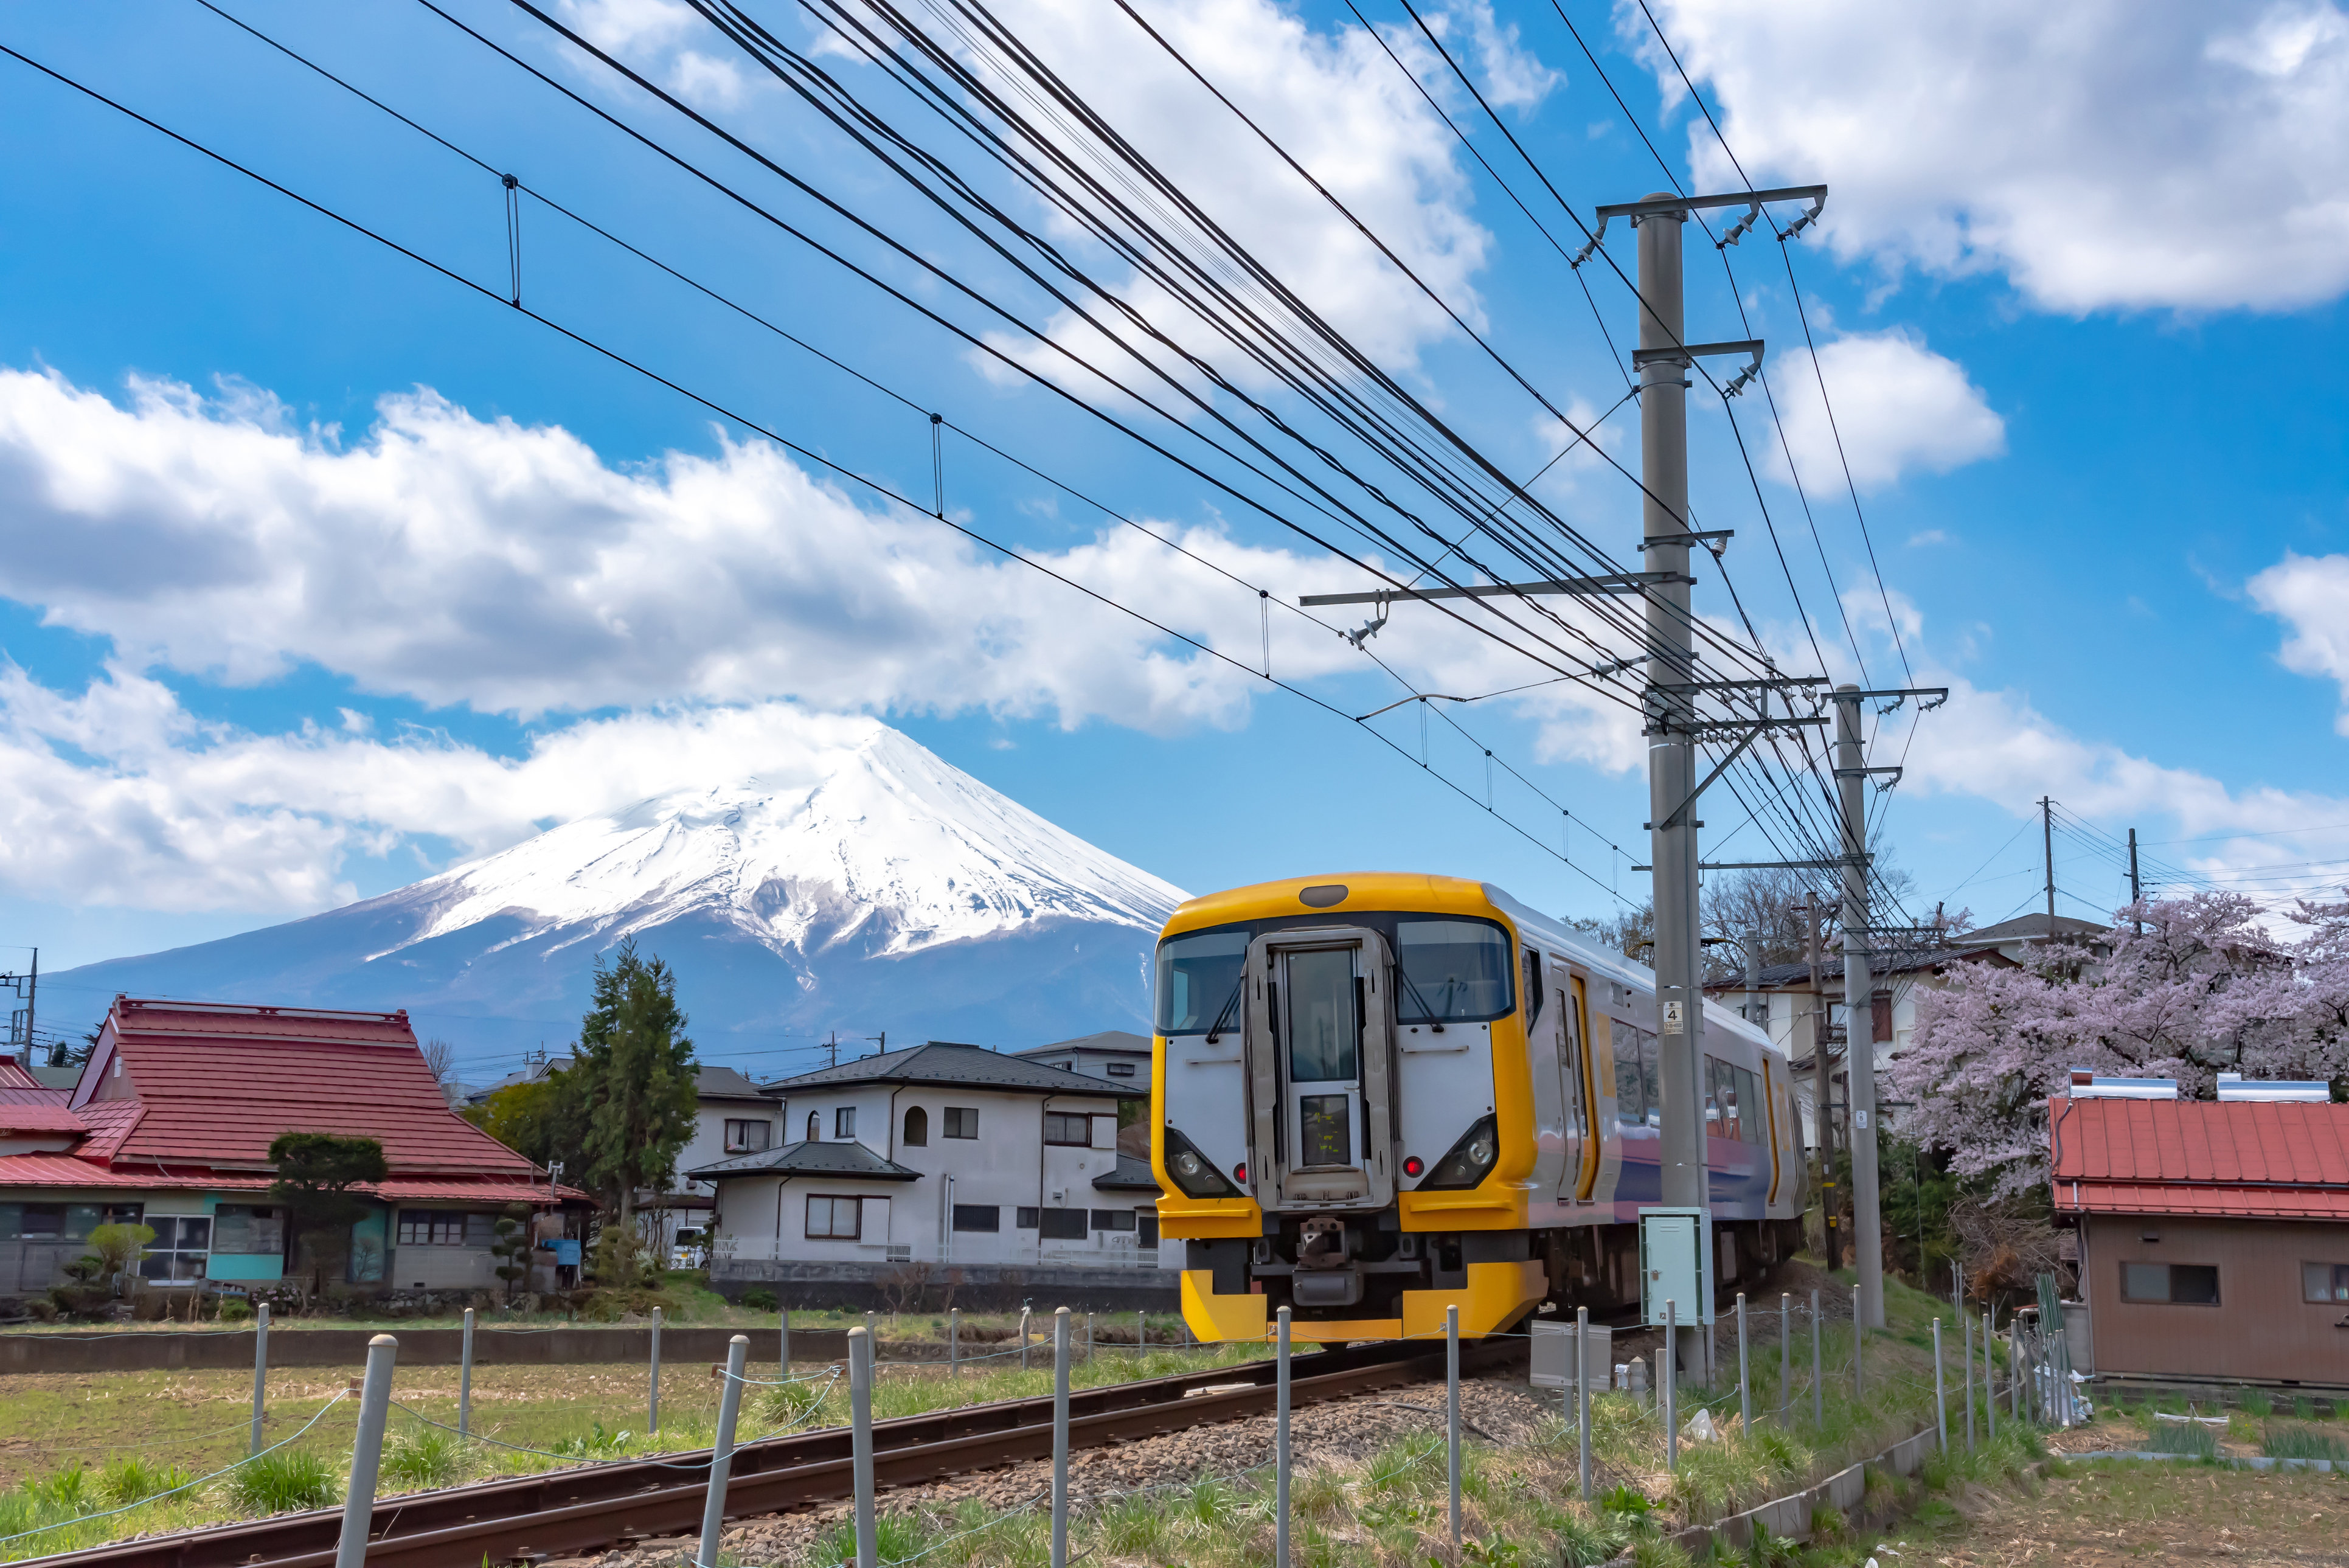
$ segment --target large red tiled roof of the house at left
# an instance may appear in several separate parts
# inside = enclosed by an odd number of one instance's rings
[[[115,1162],[265,1167],[280,1134],[331,1131],[381,1141],[399,1176],[533,1171],[449,1110],[406,1014],[117,998],[108,1023],[143,1106]]]

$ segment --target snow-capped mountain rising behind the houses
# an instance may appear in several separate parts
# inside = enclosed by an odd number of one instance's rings
[[[1151,944],[1184,897],[871,723],[789,782],[677,789],[345,908],[54,979],[406,1007],[479,1077],[559,1054],[597,955],[634,937],[677,969],[705,1061],[787,1073],[829,1030],[862,1049],[881,1030],[1027,1047],[1146,1028]]]

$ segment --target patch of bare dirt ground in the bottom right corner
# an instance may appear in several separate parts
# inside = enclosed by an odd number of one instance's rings
[[[2091,1462],[2037,1493],[1957,1498],[1964,1523],[1879,1549],[1882,1568],[2095,1568],[2142,1561],[2349,1563],[2349,1476]]]

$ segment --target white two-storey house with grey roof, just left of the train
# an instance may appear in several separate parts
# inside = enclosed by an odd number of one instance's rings
[[[1118,1153],[1118,1087],[975,1045],[930,1042],[766,1084],[785,1141],[686,1171],[716,1185],[712,1282],[850,1300],[893,1270],[972,1284],[1116,1270],[1095,1298],[1172,1300],[1149,1160]],[[1146,1270],[1137,1279],[1135,1270]],[[1106,1305],[1106,1303],[1104,1303]]]

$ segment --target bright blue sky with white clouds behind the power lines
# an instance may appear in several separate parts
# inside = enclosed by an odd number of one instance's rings
[[[843,469],[926,500],[921,408],[935,408],[1280,599],[1369,584],[989,371],[430,9],[223,9],[902,390],[914,406],[521,202],[526,305]],[[521,9],[449,9],[916,298],[977,319]],[[815,38],[806,12],[749,9],[792,42]],[[1557,251],[1344,5],[1142,9],[1560,406],[1588,418],[1621,394]],[[1865,660],[1891,681],[1905,653],[1919,681],[1954,688],[1912,742],[1907,714],[1884,739],[1882,761],[1900,751],[1907,777],[1879,810],[1921,906],[1997,920],[2030,904],[2039,836],[2020,829],[2041,793],[2093,829],[2135,826],[2199,878],[2316,890],[2349,871],[2349,432],[2333,373],[2349,347],[2349,19],[2304,2],[2088,5],[2048,31],[2044,7],[2020,2],[1889,9],[1806,0],[1762,26],[1727,0],[1654,7],[1745,171],[1832,190],[1792,246],[1795,272],[1882,589],[1766,232],[1731,251],[1734,296],[1691,230],[1689,336],[1741,336],[1743,298],[1771,345],[1802,495],[1759,399],[1738,406],[1757,484],[1717,404],[1691,404],[1698,519],[1736,528],[1731,582],[1788,657],[1809,662],[1809,617],[1837,678]],[[1001,258],[681,5],[554,12],[916,254],[1031,303]],[[1478,345],[1346,251],[1327,207],[1229,117],[1182,99],[1116,7],[1003,14],[1496,462],[1529,474],[1555,455],[1555,425]],[[1400,5],[1362,14],[1564,237]],[[1663,181],[1609,82],[1680,181],[1738,183],[1637,5],[1567,5],[1604,80],[1550,7],[1423,14],[1586,218]],[[0,42],[510,289],[489,171],[193,0],[7,7]],[[876,89],[869,66],[824,59]],[[855,484],[810,481],[810,465],[709,408],[16,61],[0,73],[0,941],[40,944],[45,967],[383,892],[691,782],[681,770],[759,772],[796,753],[808,709],[881,714],[1189,890],[1414,866],[1567,913],[1640,894],[1607,850],[1644,859],[1637,732],[1574,688],[1459,707],[1475,744],[1438,725],[1431,765],[1459,784],[1447,789],[1416,765],[1409,711],[1381,721],[1400,756]],[[1611,254],[1630,265],[1621,228]],[[1628,343],[1628,293],[1597,268],[1590,282]],[[1604,430],[1635,465],[1633,411]],[[1252,592],[961,437],[947,439],[944,486],[970,528],[1257,662]],[[1604,465],[1560,462],[1539,493],[1633,554],[1637,493]],[[1715,575],[1696,594],[1705,615],[1731,615]],[[1369,648],[1421,690],[1541,674],[1419,610],[1398,610]],[[1330,631],[1283,622],[1276,674],[1337,709],[1409,690]],[[674,744],[714,732],[714,714],[731,751]],[[1487,815],[1485,746],[1541,793],[1501,775]],[[1564,840],[1557,805],[1576,817]],[[1708,803],[1708,854],[1769,854],[1741,815]],[[1517,829],[1562,843],[1574,866]],[[2086,829],[2062,859],[2069,913],[2116,901]]]

